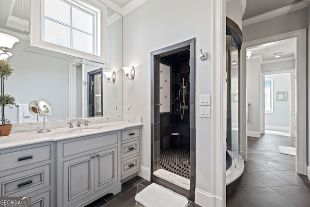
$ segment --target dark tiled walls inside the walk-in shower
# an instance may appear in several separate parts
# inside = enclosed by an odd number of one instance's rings
[[[160,63],[171,66],[171,113],[160,114],[160,149],[169,147],[174,144],[189,147],[189,60],[173,60],[168,56],[160,58]],[[183,120],[181,120],[180,102],[179,99],[175,99],[179,97],[179,89],[182,89],[183,78],[185,80],[184,85],[186,86],[185,103],[186,106],[188,106],[188,109],[184,111],[184,117]],[[179,135],[171,135],[173,132],[179,133]]]

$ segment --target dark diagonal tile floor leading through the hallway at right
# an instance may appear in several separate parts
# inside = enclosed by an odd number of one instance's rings
[[[248,137],[248,161],[227,207],[310,207],[309,179],[295,172],[295,156],[280,154],[278,145],[295,147],[295,139]]]

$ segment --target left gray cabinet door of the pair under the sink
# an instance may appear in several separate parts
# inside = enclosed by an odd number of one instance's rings
[[[93,193],[93,154],[63,162],[63,206]]]

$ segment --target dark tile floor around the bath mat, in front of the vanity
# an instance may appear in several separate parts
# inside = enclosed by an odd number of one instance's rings
[[[143,207],[135,201],[135,196],[151,182],[136,176],[122,184],[122,191],[116,195],[105,195],[86,207]],[[188,201],[187,207],[200,207]]]

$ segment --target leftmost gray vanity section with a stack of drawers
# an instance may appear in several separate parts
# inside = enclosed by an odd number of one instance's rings
[[[0,196],[31,197],[31,207],[56,206],[55,143],[0,149]]]

